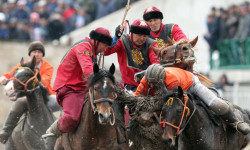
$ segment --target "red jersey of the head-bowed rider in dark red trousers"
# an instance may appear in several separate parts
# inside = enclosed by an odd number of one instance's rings
[[[74,90],[84,90],[87,79],[93,73],[92,55],[96,58],[93,43],[89,38],[75,44],[64,56],[56,73],[53,90],[63,86]]]

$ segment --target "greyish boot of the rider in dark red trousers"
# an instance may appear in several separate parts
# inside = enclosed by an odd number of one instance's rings
[[[46,131],[46,134],[42,136],[45,140],[46,150],[54,150],[56,139],[62,135],[62,132],[58,129],[57,126],[58,120],[56,120]]]

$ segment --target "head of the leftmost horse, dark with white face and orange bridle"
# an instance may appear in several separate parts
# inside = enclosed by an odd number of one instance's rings
[[[36,58],[33,57],[31,62],[25,63],[23,58],[20,61],[21,66],[17,68],[10,83],[13,84],[15,100],[34,91],[41,80],[38,70],[35,69]],[[11,83],[12,82],[12,83]]]

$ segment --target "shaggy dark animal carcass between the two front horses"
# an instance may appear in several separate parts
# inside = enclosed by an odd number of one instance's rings
[[[163,129],[159,124],[158,115],[167,97],[163,85],[156,88],[155,96],[133,96],[116,86],[117,101],[127,105],[131,118],[128,125],[129,145],[133,150],[167,150],[161,140]]]

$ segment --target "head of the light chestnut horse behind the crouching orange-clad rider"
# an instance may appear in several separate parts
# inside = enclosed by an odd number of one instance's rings
[[[165,66],[175,66],[185,70],[193,68],[193,64],[195,63],[193,47],[197,41],[198,36],[191,41],[181,40],[179,42],[175,42],[168,37],[168,43],[159,54],[161,64]]]

